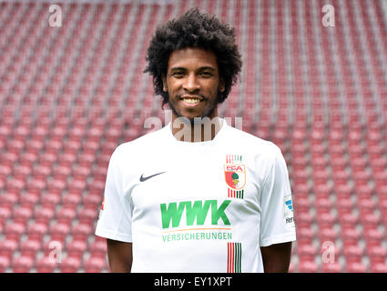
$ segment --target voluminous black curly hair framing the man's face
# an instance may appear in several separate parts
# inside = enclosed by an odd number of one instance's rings
[[[231,86],[238,81],[242,66],[235,28],[220,23],[215,15],[203,14],[198,8],[191,8],[165,25],[158,25],[148,46],[148,66],[144,73],[153,76],[155,94],[163,97],[161,107],[168,104],[168,92],[163,91],[162,76],[167,75],[169,56],[173,51],[187,47],[203,48],[216,55],[219,75],[225,85],[217,99],[218,103],[222,103],[228,97]]]

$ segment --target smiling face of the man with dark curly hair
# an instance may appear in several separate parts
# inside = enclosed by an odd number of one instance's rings
[[[217,97],[224,91],[219,77],[217,58],[202,48],[184,48],[174,51],[168,60],[167,75],[163,77],[164,91],[172,117],[218,116]]]

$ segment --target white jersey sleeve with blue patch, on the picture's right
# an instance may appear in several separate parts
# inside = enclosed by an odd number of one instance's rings
[[[279,147],[263,181],[260,206],[260,246],[296,240],[289,174]]]

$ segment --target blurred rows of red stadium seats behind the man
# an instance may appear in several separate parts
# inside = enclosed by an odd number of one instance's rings
[[[0,272],[108,271],[94,236],[108,160],[164,118],[146,48],[193,6],[237,29],[241,82],[220,114],[287,160],[290,271],[387,272],[386,1],[61,1],[61,27],[50,4],[0,3]]]

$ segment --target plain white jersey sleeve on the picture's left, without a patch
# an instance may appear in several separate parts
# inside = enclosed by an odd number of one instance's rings
[[[119,165],[122,157],[119,146],[110,157],[103,203],[97,221],[96,235],[132,242],[132,206],[123,187],[123,173]]]

